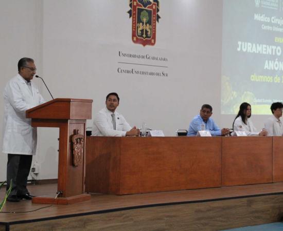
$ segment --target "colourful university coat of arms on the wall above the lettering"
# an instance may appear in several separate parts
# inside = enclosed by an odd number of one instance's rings
[[[129,0],[132,17],[132,41],[143,46],[154,46],[156,42],[156,22],[159,22],[159,0]]]

